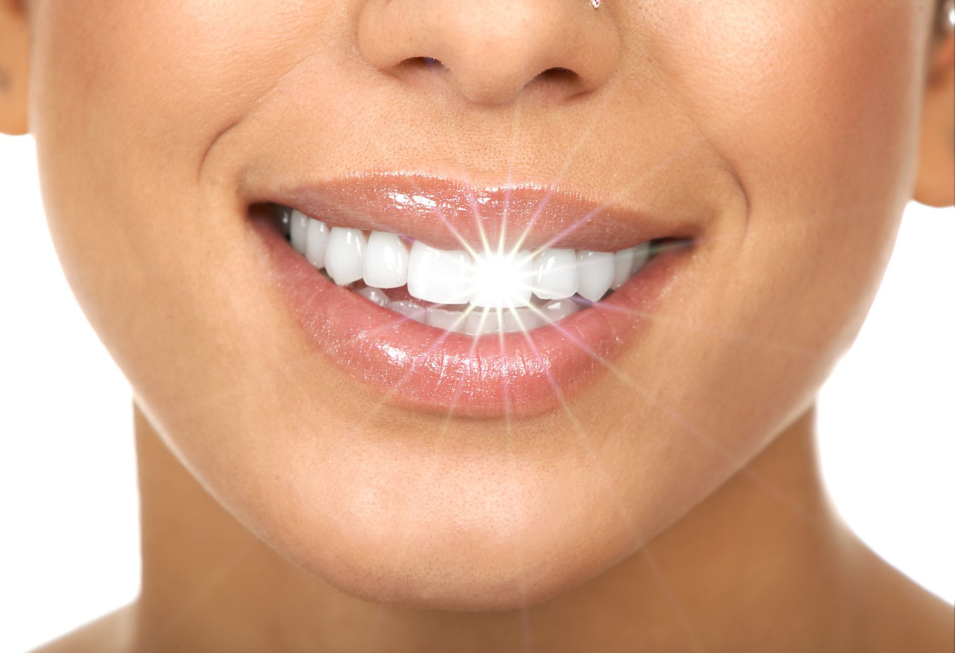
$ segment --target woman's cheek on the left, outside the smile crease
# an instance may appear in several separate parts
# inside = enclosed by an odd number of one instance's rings
[[[217,273],[199,266],[243,223],[234,189],[200,179],[203,158],[302,58],[301,39],[310,55],[341,48],[329,27],[341,20],[289,0],[51,0],[31,18],[32,131],[53,241],[122,357],[143,349],[136,334],[159,328],[156,315],[210,312]]]

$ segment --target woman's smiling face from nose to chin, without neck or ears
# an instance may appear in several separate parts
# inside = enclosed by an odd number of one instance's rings
[[[912,195],[934,4],[37,0],[30,125],[76,296],[203,486],[347,592],[506,608],[810,407]],[[259,216],[452,249],[432,201],[475,249],[506,220],[508,248],[689,245],[475,341],[395,324]]]

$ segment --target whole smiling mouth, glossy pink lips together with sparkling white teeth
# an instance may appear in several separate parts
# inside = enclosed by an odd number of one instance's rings
[[[358,175],[249,193],[308,341],[406,408],[550,411],[649,322],[693,227],[533,186]]]

